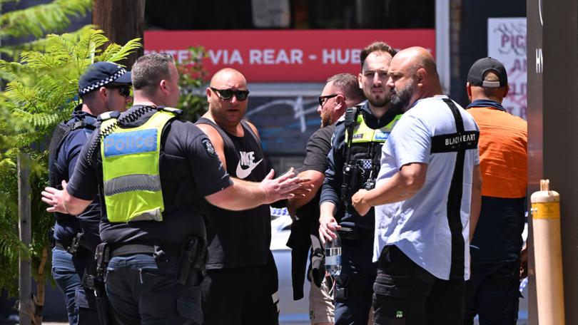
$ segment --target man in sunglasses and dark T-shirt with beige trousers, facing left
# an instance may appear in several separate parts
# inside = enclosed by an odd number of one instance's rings
[[[287,209],[294,220],[287,246],[292,249],[291,274],[295,300],[303,297],[304,271],[307,269],[308,255],[312,247],[309,318],[312,325],[330,325],[334,322],[333,298],[330,296],[330,282],[325,278],[324,268],[320,265],[320,257],[323,257],[319,240],[320,187],[325,179],[335,123],[345,114],[345,110],[361,103],[365,96],[359,87],[357,76],[339,73],[328,78],[318,99],[317,112],[321,117],[321,128],[315,131],[307,142],[307,155],[299,173],[300,177],[311,179],[314,190],[307,192],[304,197],[288,200]],[[323,274],[320,274],[320,271]]]

